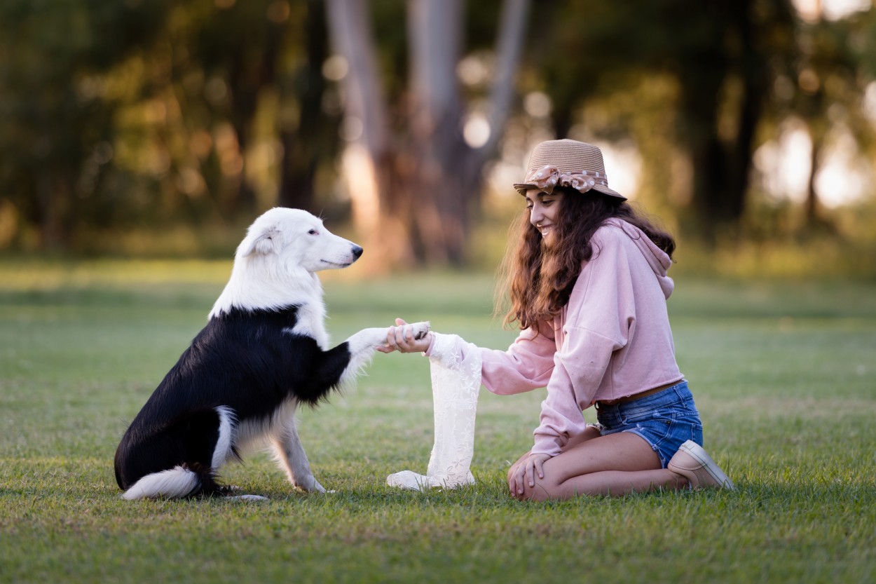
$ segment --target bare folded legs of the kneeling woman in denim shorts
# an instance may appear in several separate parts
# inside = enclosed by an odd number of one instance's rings
[[[661,468],[660,459],[643,438],[631,432],[586,439],[544,464],[544,478],[526,484],[519,499],[545,501],[578,495],[623,496],[657,488],[685,488],[679,474]]]

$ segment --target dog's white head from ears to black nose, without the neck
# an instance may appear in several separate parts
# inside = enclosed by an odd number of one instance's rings
[[[237,247],[236,260],[272,256],[281,266],[314,273],[350,266],[360,255],[362,247],[336,236],[319,217],[305,210],[277,207],[250,225]]]

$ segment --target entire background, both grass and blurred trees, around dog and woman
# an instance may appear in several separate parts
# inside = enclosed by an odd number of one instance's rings
[[[0,584],[876,582],[874,124],[872,0],[0,0]],[[512,183],[564,137],[679,239],[675,353],[738,490],[518,502],[544,393],[485,390],[476,485],[387,487],[434,442],[393,353],[298,412],[330,496],[259,454],[223,480],[269,502],[119,498],[254,217],[365,247],[321,274],[332,338],[502,348]]]

